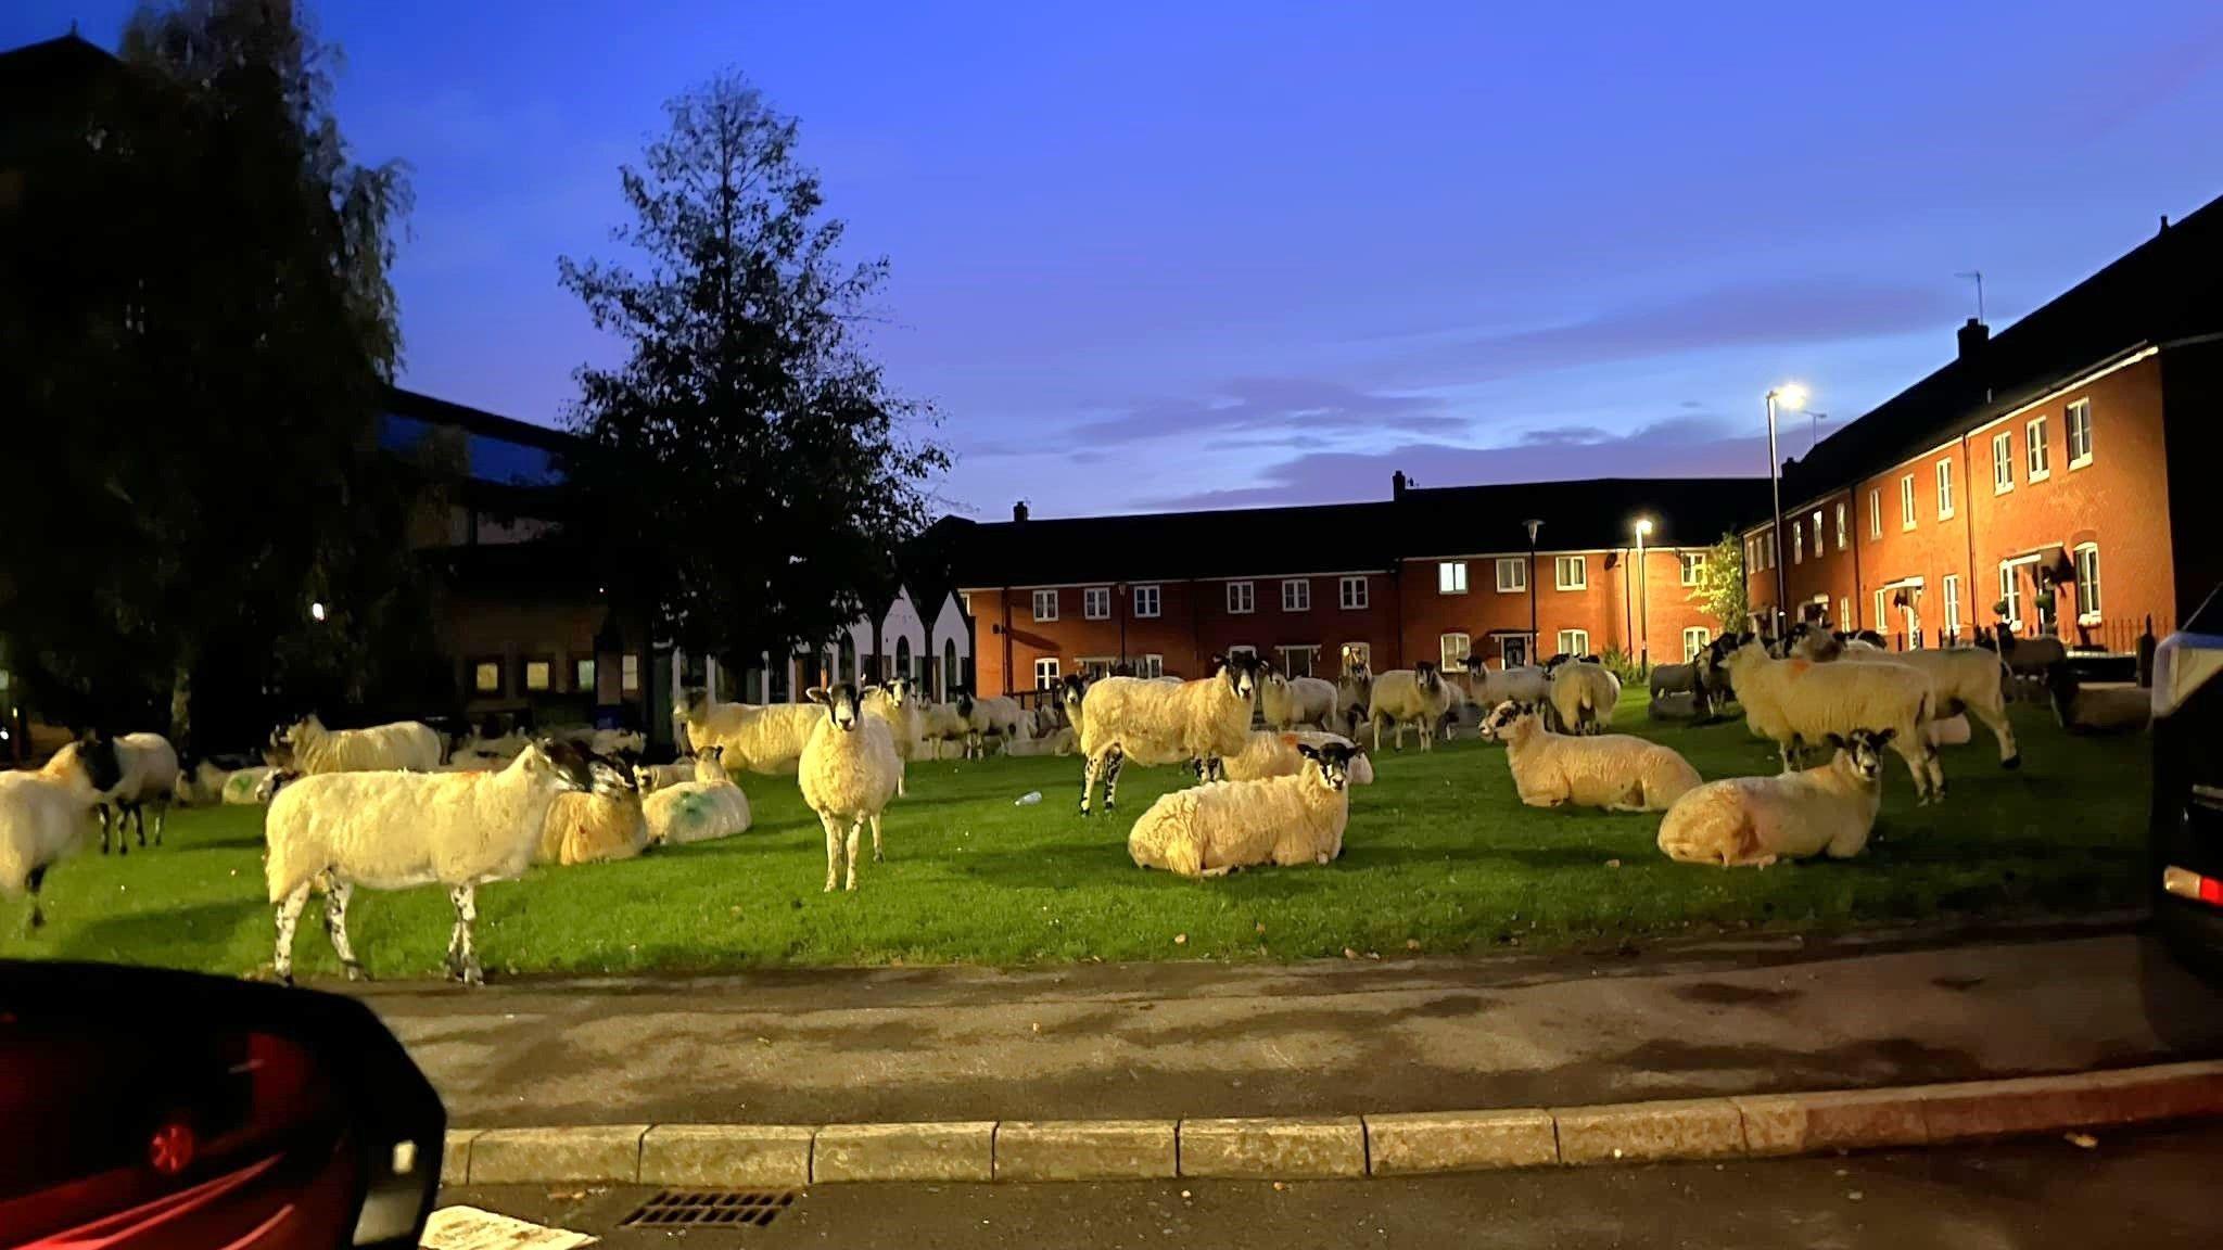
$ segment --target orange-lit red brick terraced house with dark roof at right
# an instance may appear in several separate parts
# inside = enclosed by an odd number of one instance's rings
[[[1787,614],[1898,647],[2023,636],[2134,649],[2223,578],[2223,209],[2163,229],[1783,469]],[[2212,489],[2212,487],[2210,487]],[[1754,614],[1770,520],[1743,529]]]

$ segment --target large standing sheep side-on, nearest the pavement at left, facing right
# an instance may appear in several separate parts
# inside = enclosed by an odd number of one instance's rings
[[[534,743],[502,772],[322,772],[287,785],[262,823],[262,876],[278,905],[273,974],[293,983],[293,925],[311,885],[325,890],[325,930],[347,979],[358,981],[362,965],[347,941],[356,885],[438,881],[456,907],[447,972],[465,985],[485,983],[471,943],[478,887],[522,874],[556,794],[576,790],[594,790],[594,774],[587,754],[560,741]]]

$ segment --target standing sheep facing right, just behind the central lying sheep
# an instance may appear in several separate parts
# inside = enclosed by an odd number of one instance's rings
[[[1105,814],[1118,801],[1127,761],[1167,765],[1203,761],[1218,778],[1223,758],[1243,750],[1258,694],[1258,658],[1212,656],[1209,676],[1165,685],[1107,676],[1080,701],[1080,814],[1089,814],[1096,778],[1105,783]]]

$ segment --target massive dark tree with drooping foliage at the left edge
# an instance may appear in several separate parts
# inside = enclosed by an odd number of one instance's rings
[[[144,4],[120,65],[73,56],[82,107],[44,118],[0,209],[0,354],[38,465],[11,512],[51,520],[0,527],[0,634],[64,714],[167,710],[185,738],[211,656],[316,629],[371,649],[411,574],[378,452],[409,194],[349,160],[333,49],[291,2]]]

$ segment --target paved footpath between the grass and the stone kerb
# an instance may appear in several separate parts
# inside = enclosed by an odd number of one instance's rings
[[[1569,1105],[2223,1054],[2130,934],[1643,959],[831,970],[373,985],[451,1123],[847,1123]],[[2187,1023],[2190,1021],[2190,1023]],[[2185,1036],[2179,1036],[2183,1043]]]

